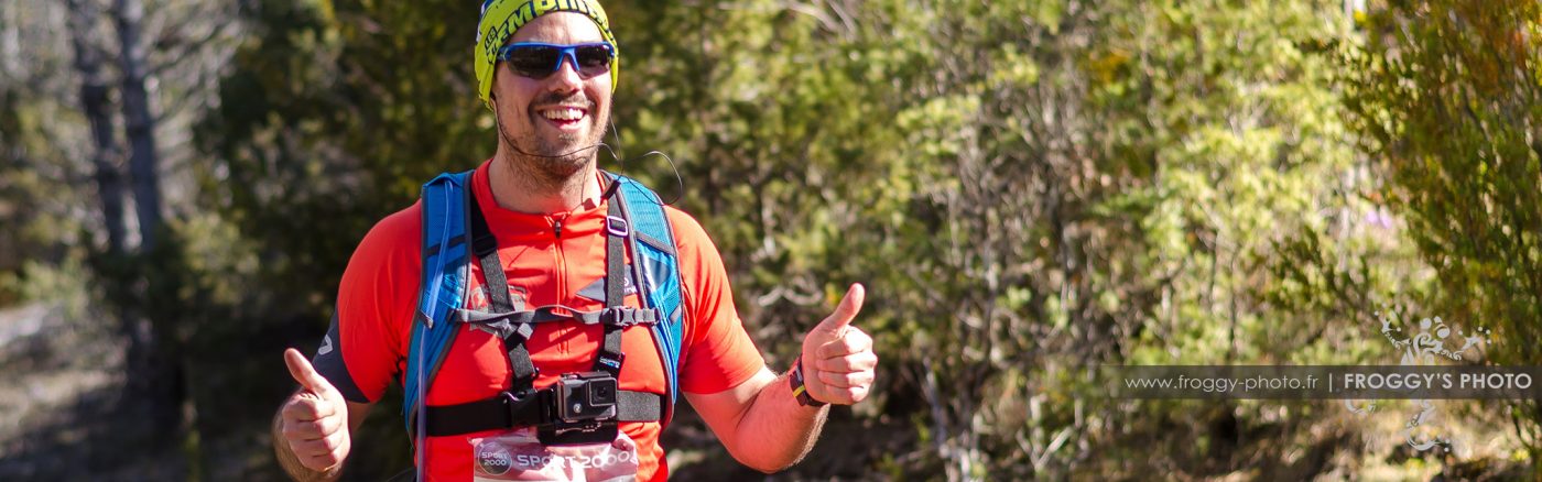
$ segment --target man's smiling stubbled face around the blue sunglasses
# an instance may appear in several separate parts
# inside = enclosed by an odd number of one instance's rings
[[[555,12],[520,28],[507,43],[575,45],[603,42],[600,28],[583,14]],[[564,180],[595,159],[611,120],[611,74],[584,77],[563,62],[544,79],[517,74],[506,62],[493,72],[492,103],[498,117],[498,149],[515,171]]]

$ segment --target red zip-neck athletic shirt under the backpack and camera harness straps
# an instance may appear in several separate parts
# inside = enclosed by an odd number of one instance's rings
[[[489,165],[484,162],[476,168],[472,191],[498,239],[510,299],[524,300],[524,310],[558,303],[581,311],[603,308],[604,203],[549,216],[507,211],[493,202]],[[739,320],[723,260],[712,240],[691,216],[674,208],[666,208],[666,213],[674,229],[683,291],[680,390],[705,394],[734,388],[759,373],[765,359]],[[316,368],[352,402],[378,400],[387,383],[401,382],[406,373],[409,326],[423,269],[421,231],[419,202],[376,223],[359,242],[342,274],[338,314],[318,353]],[[466,308],[486,310],[481,268],[475,262],[470,265]],[[637,306],[637,294],[629,293],[626,303]],[[540,370],[537,388],[554,383],[563,373],[591,370],[603,340],[601,326],[572,320],[535,326],[526,346]],[[466,403],[507,390],[506,351],[498,337],[461,326],[429,388],[427,403]],[[621,351],[626,354],[621,390],[665,393],[665,373],[646,326],[626,328]],[[637,440],[638,479],[665,479],[668,467],[662,464],[660,425],[623,422],[621,431]],[[492,433],[429,437],[429,479],[470,480],[469,440]]]

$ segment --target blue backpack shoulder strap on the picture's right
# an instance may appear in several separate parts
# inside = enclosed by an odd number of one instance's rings
[[[637,180],[611,174],[617,183],[617,199],[625,208],[632,236],[632,276],[643,285],[643,302],[658,310],[658,323],[652,325],[654,346],[665,367],[665,387],[669,391],[663,402],[662,423],[668,425],[678,399],[680,337],[683,313],[680,310],[680,265],[674,248],[674,233],[665,203],[658,194]]]

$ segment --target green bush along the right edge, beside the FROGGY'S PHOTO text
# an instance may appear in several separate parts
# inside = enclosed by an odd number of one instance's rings
[[[1433,305],[1490,326],[1496,363],[1542,348],[1542,6],[1394,2],[1346,55],[1346,106],[1388,180],[1388,203],[1437,271]],[[1534,400],[1513,410],[1539,460]],[[1537,462],[1533,462],[1537,464]]]

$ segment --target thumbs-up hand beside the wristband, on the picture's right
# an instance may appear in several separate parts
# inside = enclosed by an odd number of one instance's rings
[[[814,400],[851,405],[873,388],[873,337],[851,325],[864,296],[860,283],[851,285],[836,313],[803,336],[803,387]]]

